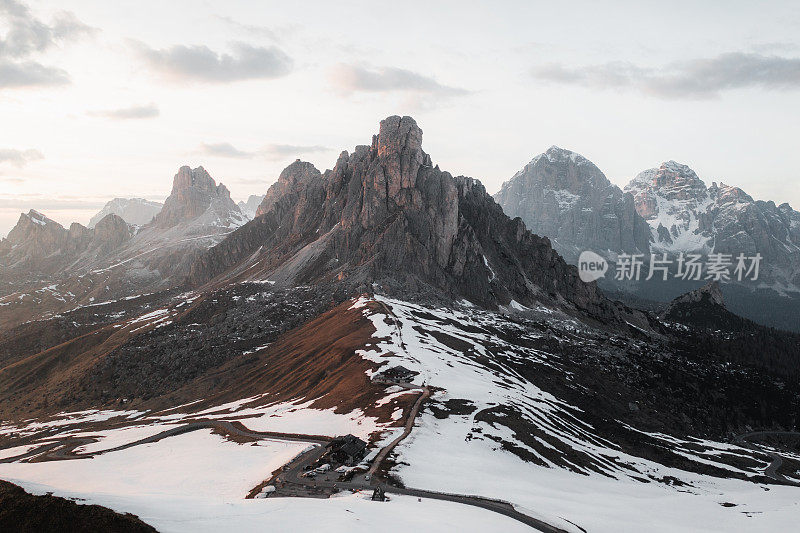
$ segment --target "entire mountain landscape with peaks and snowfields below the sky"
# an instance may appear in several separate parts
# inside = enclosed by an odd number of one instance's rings
[[[422,138],[388,117],[238,205],[184,166],[89,227],[22,214],[0,529],[796,528],[800,334],[768,326],[800,313],[759,309],[796,305],[800,213],[672,161],[623,191],[557,147],[493,197]],[[583,250],[764,271],[598,287]]]

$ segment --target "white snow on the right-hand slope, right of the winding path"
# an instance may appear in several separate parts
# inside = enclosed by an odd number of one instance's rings
[[[523,376],[523,364],[561,364],[504,317],[377,300],[391,313],[358,303],[377,329],[375,349],[363,356],[443,389],[397,449],[394,473],[408,486],[503,498],[588,531],[775,531],[800,518],[796,488],[669,468],[599,434],[580,409]],[[767,466],[763,455],[734,445],[640,434],[732,475],[755,478]]]

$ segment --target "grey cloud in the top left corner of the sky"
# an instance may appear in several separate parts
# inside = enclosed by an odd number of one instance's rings
[[[0,89],[69,83],[66,71],[32,61],[30,56],[97,32],[69,12],[56,14],[46,24],[15,0],[0,0],[0,20],[6,26],[0,38]]]

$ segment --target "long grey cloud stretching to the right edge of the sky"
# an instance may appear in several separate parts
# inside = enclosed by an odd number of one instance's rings
[[[750,87],[800,89],[800,58],[734,52],[678,61],[661,68],[624,62],[574,68],[552,63],[534,67],[531,75],[537,80],[563,85],[634,89],[668,99],[703,99]]]

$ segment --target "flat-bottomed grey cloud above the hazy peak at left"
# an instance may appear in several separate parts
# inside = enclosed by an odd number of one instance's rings
[[[233,45],[232,53],[218,53],[205,45],[174,45],[156,50],[135,43],[148,66],[176,80],[230,82],[286,76],[293,61],[276,46]]]

